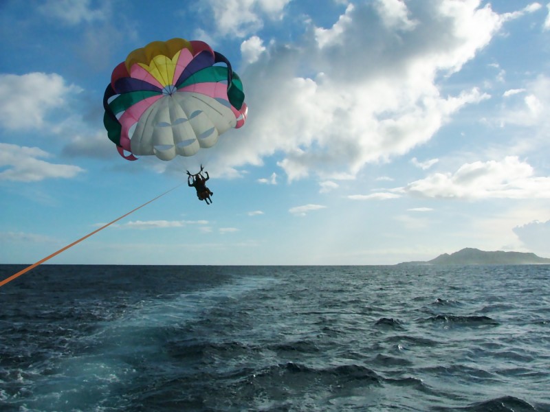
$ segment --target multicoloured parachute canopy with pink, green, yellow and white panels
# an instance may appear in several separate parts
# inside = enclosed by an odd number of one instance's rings
[[[219,62],[225,66],[214,66]],[[113,70],[103,97],[103,124],[125,159],[171,160],[210,148],[219,135],[243,126],[244,98],[230,62],[206,43],[155,41]]]

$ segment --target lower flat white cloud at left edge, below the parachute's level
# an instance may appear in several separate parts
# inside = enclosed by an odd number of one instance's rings
[[[40,148],[0,143],[0,181],[36,182],[44,179],[70,179],[84,172],[73,165],[47,163],[39,157],[50,157]]]

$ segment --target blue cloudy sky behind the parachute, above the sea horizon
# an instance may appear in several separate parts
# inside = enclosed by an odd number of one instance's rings
[[[550,258],[549,13],[522,0],[3,0],[0,263],[32,264],[161,194],[48,263]],[[230,60],[248,119],[194,157],[126,161],[102,124],[111,72],[175,37]],[[200,164],[212,205],[186,184]]]

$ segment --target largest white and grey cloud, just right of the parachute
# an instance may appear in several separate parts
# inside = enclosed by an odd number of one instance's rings
[[[475,87],[441,95],[438,84],[503,24],[479,4],[415,3],[401,13],[415,22],[406,33],[371,2],[349,5],[333,27],[311,27],[302,43],[270,44],[242,73],[245,90],[254,90],[250,116],[231,144],[220,142],[218,164],[258,165],[277,153],[289,181],[335,180],[425,144],[461,108],[489,98]]]

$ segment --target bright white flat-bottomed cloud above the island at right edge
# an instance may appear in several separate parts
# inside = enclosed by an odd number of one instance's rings
[[[428,198],[550,198],[550,177],[533,176],[518,157],[466,163],[451,173],[434,173],[409,183],[405,192]]]

